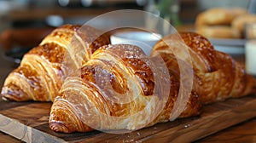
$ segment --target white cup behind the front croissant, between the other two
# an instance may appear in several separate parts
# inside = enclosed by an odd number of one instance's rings
[[[143,49],[147,55],[150,54],[154,44],[161,38],[160,34],[148,31],[120,31],[110,36],[112,44],[131,44]]]

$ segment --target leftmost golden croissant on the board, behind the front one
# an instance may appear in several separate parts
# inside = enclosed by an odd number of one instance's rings
[[[20,66],[9,73],[1,92],[3,99],[54,100],[68,73],[89,60],[96,49],[109,44],[108,37],[99,33],[90,26],[56,28],[38,47],[25,54]],[[77,41],[80,44],[74,44]]]

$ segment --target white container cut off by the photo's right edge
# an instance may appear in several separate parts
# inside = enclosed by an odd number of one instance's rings
[[[248,40],[245,45],[246,70],[248,73],[256,75],[256,39]]]

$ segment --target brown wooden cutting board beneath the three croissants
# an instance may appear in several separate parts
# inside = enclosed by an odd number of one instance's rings
[[[48,127],[51,103],[0,100],[0,130],[26,142],[191,142],[256,117],[256,96],[203,107],[201,116],[158,123],[129,134],[61,134]]]

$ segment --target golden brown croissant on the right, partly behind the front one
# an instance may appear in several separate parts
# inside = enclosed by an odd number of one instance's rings
[[[195,73],[193,85],[202,103],[256,93],[255,79],[229,54],[215,50],[207,38],[195,32],[183,32],[180,36],[189,47]],[[155,44],[153,53],[159,53],[169,72],[179,77],[177,59],[167,44],[175,38],[174,35],[164,37]]]

